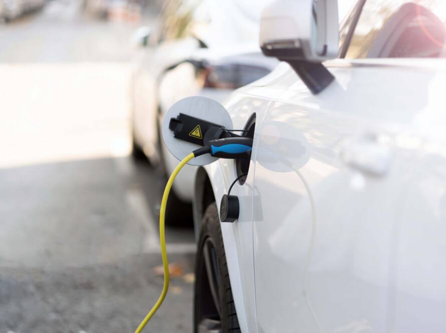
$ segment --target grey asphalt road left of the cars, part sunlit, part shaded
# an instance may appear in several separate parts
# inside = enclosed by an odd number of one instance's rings
[[[57,0],[0,26],[0,333],[132,332],[161,291],[166,180],[129,157],[136,28]],[[190,332],[193,231],[166,233],[146,331]]]

